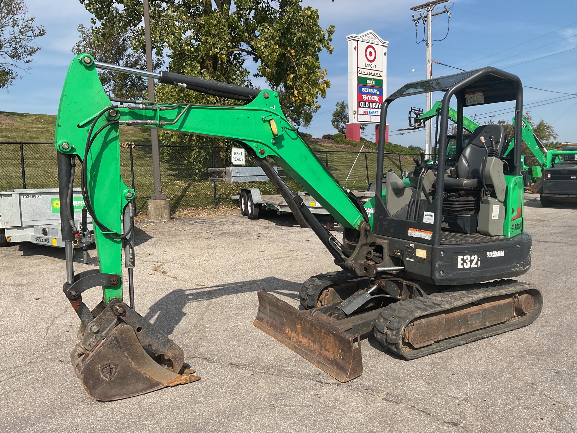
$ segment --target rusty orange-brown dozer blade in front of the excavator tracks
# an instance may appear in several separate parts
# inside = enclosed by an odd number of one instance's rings
[[[339,382],[362,374],[361,338],[312,318],[286,302],[259,290],[254,326],[323,369]]]

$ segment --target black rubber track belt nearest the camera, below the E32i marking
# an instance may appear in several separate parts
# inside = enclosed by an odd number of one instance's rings
[[[469,289],[470,287],[470,289]],[[518,316],[504,323],[495,324],[488,328],[471,331],[463,335],[456,335],[420,349],[403,349],[403,332],[413,320],[442,312],[451,308],[490,298],[523,291],[534,297],[533,309],[524,316]],[[389,305],[381,311],[374,324],[374,336],[389,352],[395,353],[404,359],[417,359],[436,352],[442,352],[456,346],[461,346],[479,339],[492,337],[507,331],[527,326],[541,313],[543,304],[542,294],[535,286],[529,283],[514,280],[501,280],[468,286],[467,290],[450,293],[433,293],[424,297],[399,301]]]

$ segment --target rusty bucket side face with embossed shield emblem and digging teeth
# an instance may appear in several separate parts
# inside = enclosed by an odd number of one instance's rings
[[[76,345],[70,357],[84,389],[100,401],[121,400],[200,379],[192,369],[176,374],[158,364],[126,323],[115,327],[91,352]]]

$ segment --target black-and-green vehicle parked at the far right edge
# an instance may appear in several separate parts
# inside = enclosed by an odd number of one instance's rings
[[[577,146],[547,154],[541,206],[552,207],[555,203],[577,203]]]

